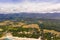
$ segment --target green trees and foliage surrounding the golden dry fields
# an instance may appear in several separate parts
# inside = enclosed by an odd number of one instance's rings
[[[26,19],[27,20],[27,19]],[[40,20],[28,20],[26,21],[24,20],[23,22],[26,22],[27,24],[38,24],[38,21]],[[43,31],[44,29],[48,29],[48,30],[56,30],[60,32],[60,20],[59,21],[54,21],[54,20],[42,20],[43,24],[39,24],[39,27],[41,28],[41,31]],[[14,22],[14,25],[17,25],[18,22]],[[16,37],[28,37],[28,38],[39,38],[39,36],[41,36],[40,32],[38,31],[38,29],[36,28],[23,28],[21,27],[12,27],[11,25],[3,25],[0,26],[1,29],[3,29],[3,31],[0,32],[0,37],[3,36],[3,33],[6,32],[8,30],[8,32],[11,32],[13,36]],[[19,33],[22,32],[22,33]],[[32,34],[25,34],[25,32],[30,32]],[[47,40],[60,40],[60,37],[57,37],[55,34],[51,34],[51,33],[43,33],[44,34],[44,38]],[[53,37],[53,38],[51,38]]]

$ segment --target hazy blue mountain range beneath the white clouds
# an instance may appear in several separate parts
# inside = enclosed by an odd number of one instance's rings
[[[42,18],[42,19],[60,19],[60,13],[9,13],[0,14],[0,20],[12,20],[16,18]]]

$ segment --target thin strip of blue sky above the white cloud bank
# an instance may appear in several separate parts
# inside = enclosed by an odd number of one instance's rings
[[[0,0],[1,3],[20,3],[20,2],[53,2],[53,3],[59,3],[60,0]]]

